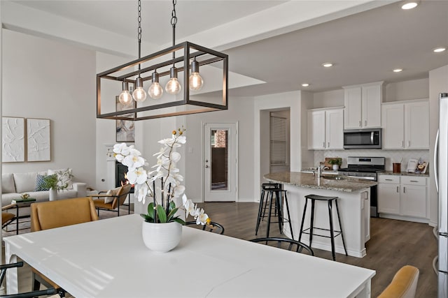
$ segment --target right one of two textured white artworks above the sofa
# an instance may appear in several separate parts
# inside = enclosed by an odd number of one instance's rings
[[[50,119],[27,119],[28,161],[50,161]]]

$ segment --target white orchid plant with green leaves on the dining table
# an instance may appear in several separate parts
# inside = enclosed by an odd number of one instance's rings
[[[185,129],[179,128],[172,131],[172,137],[160,140],[163,147],[153,156],[157,156],[155,170],[146,171],[144,166],[148,165],[146,159],[141,157],[141,152],[134,145],[127,146],[125,143],[113,146],[113,153],[119,163],[127,166],[127,180],[134,184],[135,193],[139,202],[145,204],[146,198],[152,198],[148,204],[148,213],[140,214],[149,223],[169,223],[176,221],[185,225],[185,221],[179,217],[174,202],[175,198],[182,196],[183,208],[186,216],[190,214],[196,220],[197,225],[210,223],[210,218],[204,213],[204,209],[197,207],[192,200],[186,196],[185,186],[181,185],[183,177],[179,174],[176,163],[180,161],[181,154],[176,148],[186,143]]]

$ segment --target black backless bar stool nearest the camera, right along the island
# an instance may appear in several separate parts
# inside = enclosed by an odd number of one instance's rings
[[[326,237],[331,239],[331,253],[333,256],[333,261],[336,260],[335,255],[335,237],[339,236],[339,234],[342,237],[342,244],[344,245],[344,251],[345,255],[347,255],[347,250],[345,248],[345,241],[344,241],[344,234],[342,233],[342,225],[341,225],[341,218],[339,218],[339,208],[337,207],[337,197],[325,197],[323,195],[305,195],[305,206],[303,209],[303,216],[302,216],[302,225],[300,226],[300,234],[299,234],[299,242],[302,239],[302,233],[309,234],[309,247],[311,247],[311,242],[313,241],[313,234],[314,230],[325,230],[330,231],[330,236],[322,235],[322,234],[314,234],[319,237]],[[309,225],[309,228],[303,229],[304,221],[305,221],[305,215],[307,213],[307,204],[308,200],[311,200],[311,223]],[[314,202],[318,201],[327,201],[328,202],[328,219],[330,221],[330,229],[323,229],[323,228],[315,228],[314,227]],[[337,221],[339,221],[339,231],[335,230],[333,228],[333,216],[332,216],[332,202],[335,201],[336,205],[336,213],[337,213]],[[309,232],[307,232],[309,230]],[[336,233],[336,234],[335,234]]]

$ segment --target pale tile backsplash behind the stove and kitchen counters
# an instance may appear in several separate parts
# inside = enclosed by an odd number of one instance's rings
[[[347,166],[347,157],[366,156],[366,157],[385,157],[386,171],[392,170],[392,163],[399,163],[401,160],[401,170],[406,171],[407,162],[410,158],[423,158],[429,165],[426,173],[430,173],[431,163],[429,160],[429,150],[381,150],[381,149],[347,149],[347,150],[314,150],[314,165],[325,161],[325,157],[341,157],[342,167]]]

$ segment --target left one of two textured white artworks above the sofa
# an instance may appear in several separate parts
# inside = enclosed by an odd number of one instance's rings
[[[1,117],[3,163],[25,161],[25,119]]]

